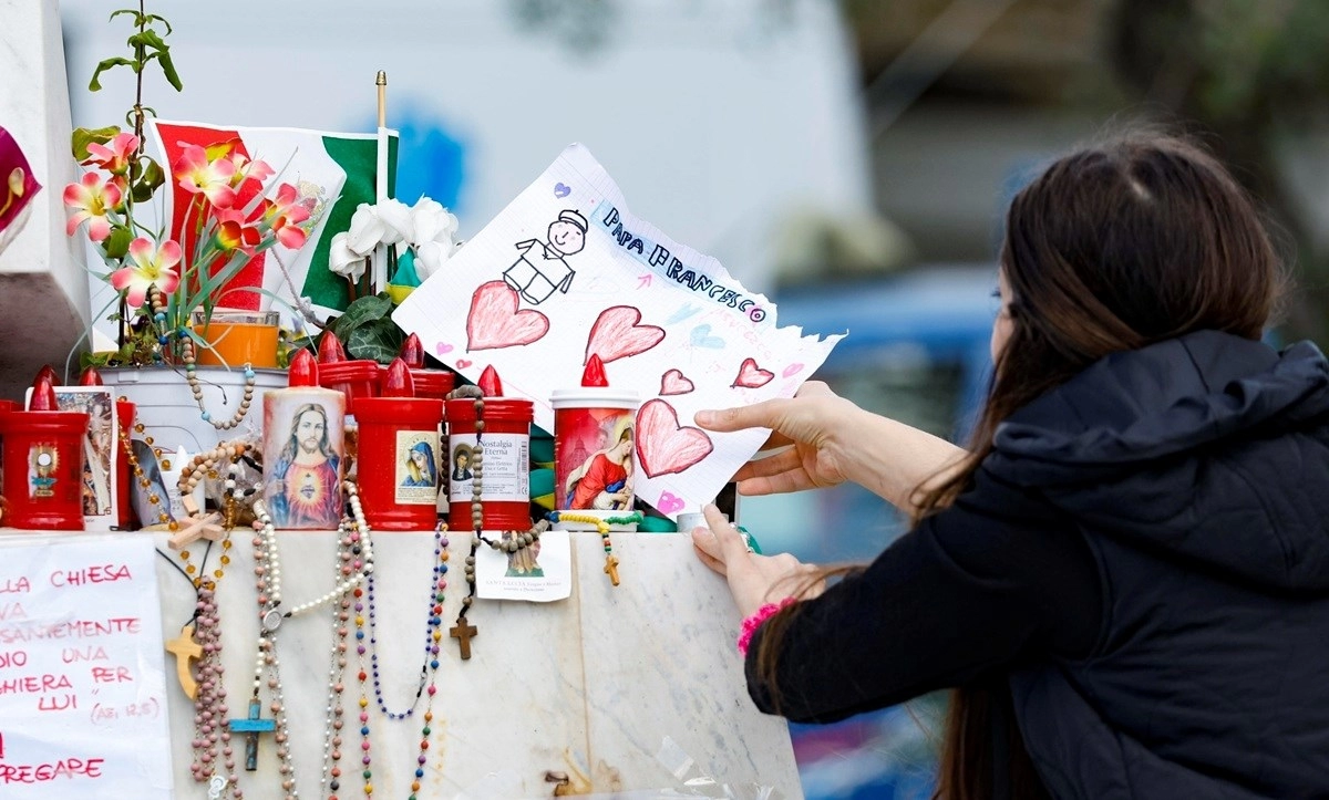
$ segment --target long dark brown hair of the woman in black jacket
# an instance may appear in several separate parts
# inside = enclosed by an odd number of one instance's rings
[[[916,492],[920,518],[971,485],[1015,409],[1111,352],[1200,330],[1259,339],[1284,283],[1263,215],[1241,186],[1203,148],[1158,133],[1075,151],[1021,190],[1006,215],[1001,270],[1010,336],[970,454],[958,472]],[[763,675],[775,676],[769,634],[781,633],[787,617],[762,639]],[[998,775],[1005,785],[994,785]],[[954,691],[936,792],[941,800],[993,796],[1045,796],[1005,676]]]

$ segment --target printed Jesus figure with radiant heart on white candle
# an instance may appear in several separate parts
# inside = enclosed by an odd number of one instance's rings
[[[268,513],[276,528],[336,528],[342,518],[340,457],[328,441],[327,411],[318,403],[295,409],[291,435],[267,478]]]

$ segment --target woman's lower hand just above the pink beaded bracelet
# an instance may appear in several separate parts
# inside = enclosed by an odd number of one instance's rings
[[[739,614],[751,617],[766,603],[787,597],[811,599],[825,590],[817,567],[788,553],[758,555],[743,534],[714,505],[703,509],[707,528],[692,530],[692,548],[702,563],[724,575]]]

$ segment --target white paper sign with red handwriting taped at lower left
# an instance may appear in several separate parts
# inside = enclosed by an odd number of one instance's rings
[[[0,797],[170,797],[150,537],[0,537]]]

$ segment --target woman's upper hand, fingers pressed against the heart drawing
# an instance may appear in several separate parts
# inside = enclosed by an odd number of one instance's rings
[[[766,400],[724,411],[699,411],[696,424],[731,432],[769,428],[766,449],[793,445],[748,461],[734,478],[742,494],[776,494],[833,486],[845,480],[841,443],[859,407],[819,381],[803,384],[788,400]]]

